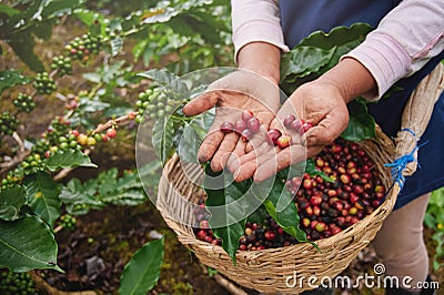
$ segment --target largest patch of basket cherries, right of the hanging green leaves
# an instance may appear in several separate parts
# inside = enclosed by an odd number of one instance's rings
[[[316,241],[337,234],[380,206],[385,196],[380,173],[356,143],[336,140],[314,159],[320,175],[304,174],[286,182],[295,196],[301,228],[307,238]]]

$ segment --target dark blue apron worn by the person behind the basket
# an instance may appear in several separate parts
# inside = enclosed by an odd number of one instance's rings
[[[329,32],[335,27],[351,26],[356,22],[369,23],[376,28],[380,20],[400,2],[389,0],[280,0],[285,43],[293,48],[314,31]],[[389,99],[369,105],[370,113],[389,136],[396,136],[401,128],[404,105],[413,90],[443,59],[444,52],[428,61],[412,77],[398,81],[397,84],[402,91],[396,91]],[[412,176],[406,177],[395,208],[444,186],[444,93],[436,102],[431,122],[418,144],[424,142],[426,144],[418,151],[420,166]]]

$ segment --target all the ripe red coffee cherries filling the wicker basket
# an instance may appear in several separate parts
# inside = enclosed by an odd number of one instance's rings
[[[311,128],[304,128],[303,121],[299,123],[303,132]],[[386,189],[375,164],[359,144],[339,139],[313,160],[316,169],[331,181],[306,173],[286,181],[286,189],[297,205],[300,228],[306,233],[309,241],[344,231],[374,212],[383,202]],[[221,245],[209,228],[210,214],[204,205],[200,204],[194,213],[196,238]],[[264,250],[295,243],[295,238],[268,215],[261,224],[246,223],[239,250]]]

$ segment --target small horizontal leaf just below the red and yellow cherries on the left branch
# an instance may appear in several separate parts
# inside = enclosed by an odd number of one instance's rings
[[[58,152],[48,157],[47,167],[50,171],[70,167],[97,167],[91,163],[91,159],[79,150],[68,150]]]

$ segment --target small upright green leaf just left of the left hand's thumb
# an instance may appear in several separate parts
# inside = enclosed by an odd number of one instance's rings
[[[173,134],[174,124],[169,118],[162,118],[155,121],[152,131],[152,145],[154,148],[154,153],[162,163],[165,163],[167,159],[172,153],[173,148]]]

